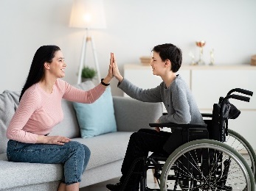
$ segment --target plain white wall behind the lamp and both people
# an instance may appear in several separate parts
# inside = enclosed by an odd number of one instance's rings
[[[35,51],[46,44],[60,46],[65,80],[75,84],[84,31],[69,28],[71,7],[72,0],[0,0],[0,92],[21,90]],[[255,8],[255,0],[105,0],[107,28],[93,32],[100,73],[105,76],[111,51],[122,71],[160,43],[179,46],[188,64],[190,51],[198,57],[196,40],[207,41],[207,62],[214,48],[216,65],[249,64],[256,54]],[[122,95],[116,80],[111,87]]]

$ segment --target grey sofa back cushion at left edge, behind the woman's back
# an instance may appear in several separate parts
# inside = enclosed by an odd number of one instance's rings
[[[0,94],[0,154],[6,153],[6,130],[18,107],[20,93],[5,90]],[[0,168],[1,169],[1,168]]]

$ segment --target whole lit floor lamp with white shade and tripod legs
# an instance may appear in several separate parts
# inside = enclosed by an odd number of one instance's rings
[[[103,0],[73,0],[69,26],[86,29],[86,35],[83,37],[77,84],[81,82],[81,74],[86,60],[86,48],[89,44],[91,44],[91,50],[94,56],[97,79],[100,82],[100,67],[97,60],[94,38],[89,32],[91,29],[105,28]]]

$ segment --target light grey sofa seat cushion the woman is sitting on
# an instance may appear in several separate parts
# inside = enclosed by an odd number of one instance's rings
[[[89,147],[91,157],[86,167],[89,170],[122,160],[131,134],[132,132],[113,132],[89,139],[72,140]],[[0,154],[0,169],[1,189],[58,181],[63,176],[63,165],[7,162],[6,154]],[[4,181],[5,179],[8,181]]]

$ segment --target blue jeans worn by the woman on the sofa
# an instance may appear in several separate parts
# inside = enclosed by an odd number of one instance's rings
[[[86,145],[70,141],[65,145],[30,144],[9,140],[7,158],[10,162],[63,164],[65,184],[81,181],[89,162],[91,151]]]

